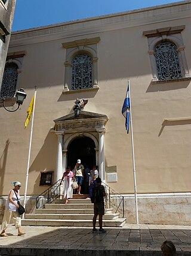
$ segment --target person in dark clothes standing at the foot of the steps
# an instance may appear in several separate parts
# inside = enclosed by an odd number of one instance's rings
[[[106,233],[106,230],[102,227],[103,215],[104,215],[104,199],[106,196],[106,192],[104,190],[104,186],[101,185],[100,177],[96,178],[96,185],[93,188],[93,192],[91,195],[91,202],[94,203],[94,217],[93,217],[93,233],[97,232],[96,229],[96,219],[97,215],[99,215],[99,225],[100,230],[99,233]]]

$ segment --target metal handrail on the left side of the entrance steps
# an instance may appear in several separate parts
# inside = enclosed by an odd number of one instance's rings
[[[36,209],[44,208],[45,204],[53,203],[54,200],[60,197],[60,185],[61,179],[38,195],[36,197]]]

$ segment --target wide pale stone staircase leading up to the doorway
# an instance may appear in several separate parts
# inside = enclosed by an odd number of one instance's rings
[[[44,209],[35,209],[33,213],[25,214],[25,219],[22,219],[21,224],[25,226],[92,227],[93,215],[94,204],[91,203],[88,195],[73,195],[73,199],[69,199],[68,204],[56,199],[53,203],[45,204]],[[103,227],[122,227],[125,221],[125,218],[119,218],[119,213],[113,213],[112,208],[105,209]]]

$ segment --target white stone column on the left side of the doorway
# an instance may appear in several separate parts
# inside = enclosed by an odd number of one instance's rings
[[[56,181],[61,179],[62,171],[62,149],[63,149],[63,132],[56,132],[58,136],[57,144],[57,161],[56,161]]]

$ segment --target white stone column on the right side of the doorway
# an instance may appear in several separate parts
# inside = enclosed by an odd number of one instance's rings
[[[97,129],[99,134],[99,174],[103,182],[105,182],[105,154],[104,154],[104,133],[105,128]]]

